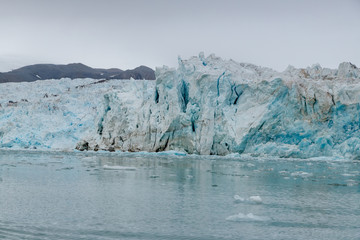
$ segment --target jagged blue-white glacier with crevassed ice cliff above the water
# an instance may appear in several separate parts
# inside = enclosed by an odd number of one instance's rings
[[[0,147],[360,159],[360,70],[283,72],[215,55],[156,81],[0,85]]]

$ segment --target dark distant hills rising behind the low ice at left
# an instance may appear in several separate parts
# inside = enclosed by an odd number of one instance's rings
[[[0,73],[0,83],[4,82],[33,82],[43,79],[60,78],[94,78],[94,79],[147,79],[154,80],[155,72],[146,66],[131,70],[118,68],[91,68],[81,63],[67,65],[35,64],[22,67],[10,72]]]

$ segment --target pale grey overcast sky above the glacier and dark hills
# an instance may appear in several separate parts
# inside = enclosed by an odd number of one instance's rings
[[[204,51],[284,70],[360,66],[360,0],[0,0],[0,71],[177,66]]]

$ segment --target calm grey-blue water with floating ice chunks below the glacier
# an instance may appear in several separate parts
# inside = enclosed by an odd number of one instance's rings
[[[359,183],[357,161],[0,151],[0,239],[360,239]]]

